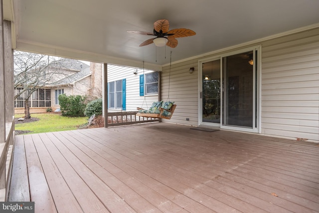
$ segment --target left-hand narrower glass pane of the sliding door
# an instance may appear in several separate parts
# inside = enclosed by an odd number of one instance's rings
[[[220,60],[202,63],[202,122],[220,123]]]

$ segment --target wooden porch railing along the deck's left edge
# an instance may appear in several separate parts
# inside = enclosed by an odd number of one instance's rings
[[[5,123],[5,142],[0,143],[0,202],[6,201],[12,165],[14,120]]]

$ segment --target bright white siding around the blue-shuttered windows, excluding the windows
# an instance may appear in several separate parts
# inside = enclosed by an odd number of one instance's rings
[[[108,64],[108,82],[126,79],[126,111],[136,111],[137,107],[150,108],[159,99],[158,95],[140,96],[140,75],[154,71],[139,68],[138,74],[134,74],[135,71],[135,67]]]

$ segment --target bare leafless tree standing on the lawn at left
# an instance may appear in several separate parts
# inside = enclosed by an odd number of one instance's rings
[[[56,57],[30,52],[14,51],[14,88],[21,88],[14,99],[24,95],[24,118],[31,118],[29,99],[38,88],[54,86],[62,78],[68,78],[73,72],[67,71],[65,61]]]

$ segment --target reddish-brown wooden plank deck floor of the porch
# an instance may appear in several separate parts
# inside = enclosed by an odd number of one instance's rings
[[[319,212],[319,146],[166,123],[20,135],[10,189],[35,213]]]

